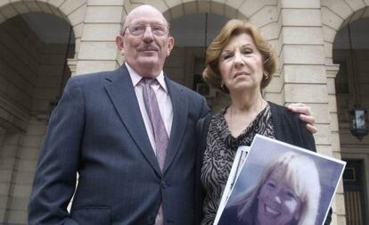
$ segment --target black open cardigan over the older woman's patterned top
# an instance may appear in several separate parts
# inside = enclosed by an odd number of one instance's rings
[[[299,114],[293,113],[278,104],[269,102],[270,112],[272,113],[272,122],[275,128],[275,139],[289,143],[294,146],[300,146],[316,152],[316,142],[313,135],[307,130],[306,123],[299,120]],[[202,155],[206,148],[206,137],[209,131],[211,116],[201,119],[197,124],[197,130],[201,137],[199,151],[196,160],[196,222],[200,223],[202,217],[202,201],[205,191],[201,187],[201,166]],[[330,224],[332,221],[332,209],[327,215],[324,224]]]

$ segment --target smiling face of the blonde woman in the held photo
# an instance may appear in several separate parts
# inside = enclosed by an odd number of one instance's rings
[[[289,224],[292,219],[299,220],[301,200],[291,185],[284,179],[284,171],[276,168],[258,194],[258,225]]]

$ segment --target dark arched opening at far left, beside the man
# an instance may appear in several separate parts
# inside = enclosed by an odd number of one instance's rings
[[[0,223],[26,224],[47,118],[71,75],[76,37],[51,4],[18,1],[1,12]]]

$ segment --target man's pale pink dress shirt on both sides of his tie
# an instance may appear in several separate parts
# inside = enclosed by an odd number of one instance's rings
[[[143,78],[137,72],[135,72],[127,63],[127,70],[129,76],[131,77],[132,84],[135,88],[135,96],[138,100],[138,105],[140,106],[141,115],[143,116],[144,127],[146,128],[147,135],[152,144],[152,149],[156,153],[155,149],[155,139],[152,132],[152,123],[150,122],[149,116],[146,112],[146,108],[143,102],[143,85],[140,83]],[[155,92],[156,99],[158,100],[161,118],[164,121],[165,128],[167,129],[168,137],[170,138],[170,130],[172,128],[173,121],[173,107],[170,100],[167,84],[164,80],[164,73],[160,71],[159,76],[156,78],[158,82],[152,84],[152,89]]]

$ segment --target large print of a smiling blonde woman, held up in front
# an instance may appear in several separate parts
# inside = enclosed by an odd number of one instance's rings
[[[219,207],[214,224],[321,225],[345,165],[335,158],[257,135],[241,171],[228,178],[230,184],[235,180],[234,185],[225,188],[225,203]]]

